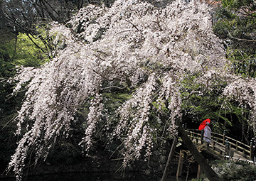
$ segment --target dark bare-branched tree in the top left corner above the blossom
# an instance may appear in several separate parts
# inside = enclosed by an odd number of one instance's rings
[[[113,1],[105,1],[110,6]],[[76,13],[82,6],[87,4],[102,4],[102,1],[84,0],[11,0],[1,1],[1,11],[6,23],[14,28],[16,35],[26,33],[28,38],[41,49],[54,57],[55,47],[50,35],[47,34],[48,25],[52,22],[67,23],[73,13]],[[38,40],[43,43],[38,44]],[[36,41],[34,41],[36,40]]]

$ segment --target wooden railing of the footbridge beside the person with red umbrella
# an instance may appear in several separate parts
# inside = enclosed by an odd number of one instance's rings
[[[186,129],[186,132],[196,144],[203,143],[203,132],[195,129]],[[233,152],[242,155],[247,160],[254,160],[255,155],[253,154],[252,141],[250,146],[247,146],[245,143],[226,136],[225,131],[223,135],[212,132],[211,141],[213,143],[212,149],[220,155],[223,155],[223,158],[227,157],[230,150],[232,150]],[[218,149],[216,149],[217,147]]]

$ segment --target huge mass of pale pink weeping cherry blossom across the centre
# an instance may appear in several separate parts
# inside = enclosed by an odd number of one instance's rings
[[[195,77],[194,84],[202,89],[215,86],[213,77],[235,79],[212,31],[209,11],[199,1],[177,0],[156,8],[144,1],[117,0],[110,8],[80,9],[69,22],[71,28],[53,23],[54,42],[62,43],[57,56],[38,69],[23,67],[16,77],[15,91],[30,80],[16,118],[17,133],[23,137],[9,163],[17,180],[22,178],[27,155],[33,151],[36,159],[46,158],[57,136],[69,135],[78,107],[92,98],[80,143],[90,150],[102,121],[102,91],[111,91],[113,83],[136,89],[117,110],[119,122],[111,134],[126,136],[124,165],[139,158],[144,148],[146,157],[151,154],[154,133],[159,131],[149,119],[151,109],[169,110],[170,119],[160,120],[167,128],[161,130],[175,136],[185,79]],[[109,87],[103,87],[106,82]]]

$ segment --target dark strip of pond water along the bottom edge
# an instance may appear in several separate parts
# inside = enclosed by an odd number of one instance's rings
[[[99,173],[63,173],[29,176],[24,181],[160,181],[161,177],[149,177],[140,173],[126,173],[124,176],[120,174],[99,174]],[[185,181],[186,176],[168,177],[168,181]],[[188,180],[191,180],[189,178]],[[15,181],[14,178],[4,179],[3,181]]]

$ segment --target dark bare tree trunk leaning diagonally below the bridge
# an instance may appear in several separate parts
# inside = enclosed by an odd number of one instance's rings
[[[181,136],[181,139],[185,144],[186,148],[188,148],[188,150],[191,152],[193,157],[196,159],[197,163],[202,168],[206,177],[208,177],[210,181],[220,181],[221,178],[213,171],[212,168],[210,168],[210,165],[206,162],[206,158],[204,158],[203,155],[199,153],[196,146],[193,145],[186,131],[182,128],[181,123],[178,123],[178,133],[179,133],[179,136]]]

